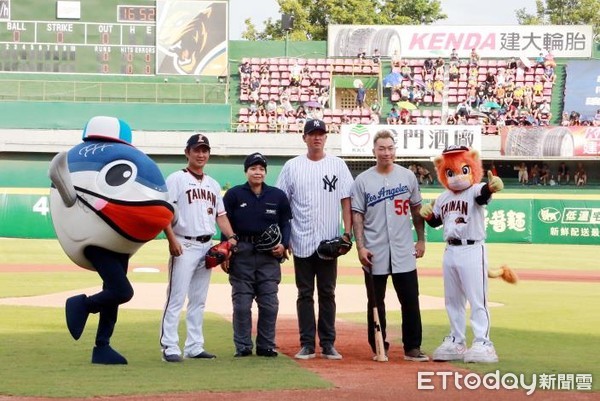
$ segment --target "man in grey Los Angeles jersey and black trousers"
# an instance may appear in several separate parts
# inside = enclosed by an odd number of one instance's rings
[[[396,144],[389,130],[373,140],[376,165],[356,177],[352,187],[352,218],[358,258],[373,275],[374,297],[369,297],[368,340],[375,352],[373,306],[377,305],[381,331],[386,337],[385,290],[392,277],[402,309],[404,359],[425,362],[421,352],[422,325],[416,258],[425,253],[425,225],[419,214],[421,192],[414,173],[394,163]],[[417,232],[413,242],[412,224]],[[365,282],[368,279],[365,272]],[[386,352],[389,343],[385,342]]]

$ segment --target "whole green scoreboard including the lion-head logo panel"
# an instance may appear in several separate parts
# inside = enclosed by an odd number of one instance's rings
[[[0,72],[223,75],[223,0],[0,0]]]

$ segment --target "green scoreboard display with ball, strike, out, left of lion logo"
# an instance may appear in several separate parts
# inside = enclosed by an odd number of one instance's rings
[[[0,72],[155,74],[156,6],[100,4],[116,18],[0,21]]]

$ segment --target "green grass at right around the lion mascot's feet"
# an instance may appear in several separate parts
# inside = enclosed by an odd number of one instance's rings
[[[421,294],[442,296],[436,278],[421,278]],[[516,286],[493,281],[490,300],[504,306],[491,308],[492,331],[500,357],[497,364],[453,363],[478,373],[577,374],[591,373],[593,389],[600,390],[600,294],[597,284],[564,282],[521,282]],[[363,314],[345,315],[362,323]],[[448,334],[445,311],[422,312],[423,349],[431,353]],[[388,312],[388,335],[400,347],[400,313]],[[467,327],[472,340],[470,326]]]

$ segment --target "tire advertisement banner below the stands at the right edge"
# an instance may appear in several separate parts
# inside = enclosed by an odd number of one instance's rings
[[[500,129],[500,154],[518,157],[600,156],[600,127],[519,127]]]

